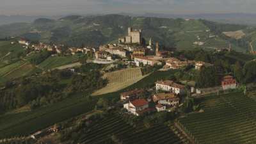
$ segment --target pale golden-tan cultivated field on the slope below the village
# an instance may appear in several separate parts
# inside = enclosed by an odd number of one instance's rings
[[[125,70],[109,72],[103,77],[108,79],[107,86],[93,93],[93,95],[102,95],[122,90],[123,88],[140,81],[146,76],[142,76],[140,68],[127,68]]]

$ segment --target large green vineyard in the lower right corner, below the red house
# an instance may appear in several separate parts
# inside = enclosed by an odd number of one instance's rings
[[[204,99],[204,113],[179,118],[177,123],[196,143],[256,143],[256,102],[242,93]]]

